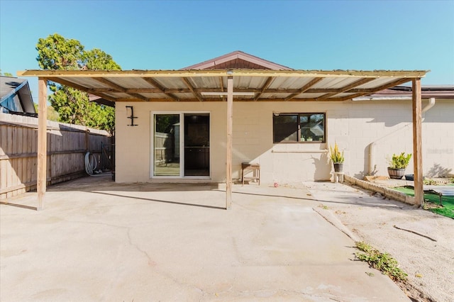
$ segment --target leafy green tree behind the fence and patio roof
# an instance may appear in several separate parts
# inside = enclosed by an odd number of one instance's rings
[[[94,48],[85,50],[78,40],[66,39],[57,33],[38,39],[38,65],[42,69],[60,70],[121,70],[111,55]],[[86,125],[104,130],[114,130],[114,108],[89,101],[88,94],[69,86],[49,83],[53,92],[50,104],[64,123]]]

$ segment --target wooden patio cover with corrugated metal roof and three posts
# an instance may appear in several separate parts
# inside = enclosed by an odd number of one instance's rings
[[[412,82],[416,203],[422,204],[421,77],[427,71],[184,69],[184,70],[27,70],[38,77],[38,209],[45,194],[46,80],[72,86],[111,102],[227,101],[226,208],[231,205],[233,96],[235,101],[348,101]],[[43,114],[44,113],[44,114]]]

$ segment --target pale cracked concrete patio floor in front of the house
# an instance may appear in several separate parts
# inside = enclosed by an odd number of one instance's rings
[[[301,188],[86,177],[0,205],[0,301],[409,301]],[[373,272],[370,277],[366,273]]]

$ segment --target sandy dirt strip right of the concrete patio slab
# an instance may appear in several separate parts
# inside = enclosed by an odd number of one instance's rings
[[[453,301],[454,220],[355,186],[304,184],[356,240],[397,259],[408,274],[400,284],[414,301]],[[373,276],[372,276],[373,278]]]

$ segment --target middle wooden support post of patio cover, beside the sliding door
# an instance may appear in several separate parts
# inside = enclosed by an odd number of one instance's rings
[[[227,78],[226,210],[232,208],[233,77]]]

